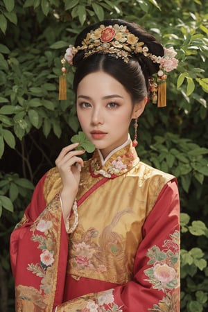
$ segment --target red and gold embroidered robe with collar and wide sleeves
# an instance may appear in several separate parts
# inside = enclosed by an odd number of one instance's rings
[[[132,144],[104,165],[96,151],[82,169],[70,235],[61,188],[52,168],[12,232],[16,311],[179,312],[175,177],[140,162]]]

